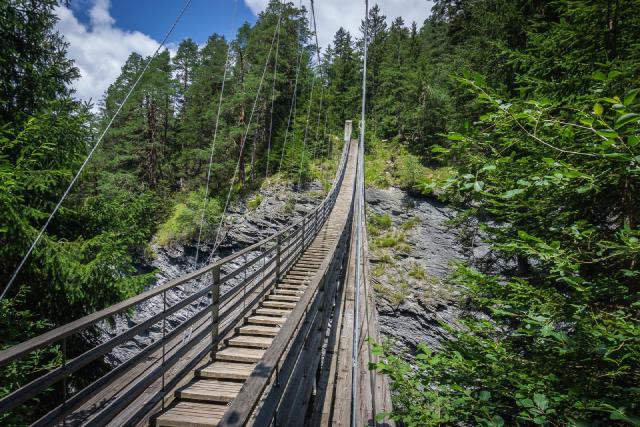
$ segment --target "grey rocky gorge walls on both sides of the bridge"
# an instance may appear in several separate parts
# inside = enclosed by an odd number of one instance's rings
[[[313,209],[322,200],[319,182],[311,183],[306,191],[297,192],[291,186],[265,186],[257,196],[259,203],[250,200],[233,205],[221,229],[222,241],[213,250],[211,243],[201,246],[196,254],[195,242],[159,246],[153,244],[153,259],[141,270],[155,272],[155,280],[147,289],[162,285],[196,268],[204,260],[216,260],[258,242],[286,227]],[[460,242],[459,230],[447,224],[456,212],[432,199],[416,198],[395,187],[367,189],[370,240],[371,280],[376,295],[376,308],[381,334],[399,352],[409,357],[416,346],[427,343],[438,346],[446,336],[440,322],[454,325],[457,317],[456,297],[461,290],[443,280],[456,261],[478,256],[486,248],[476,245],[471,253]],[[376,218],[384,218],[386,225],[376,225]],[[373,219],[373,221],[371,221]],[[213,250],[213,253],[212,253]],[[248,258],[257,253],[249,253]],[[227,292],[235,282],[227,284]],[[193,281],[167,292],[171,306],[190,295],[194,288],[206,283]],[[193,303],[167,318],[166,331],[182,323],[200,309],[205,301]],[[119,315],[113,322],[101,325],[101,340],[113,338],[131,326],[162,311],[163,299],[151,298],[136,306],[132,312]],[[131,358],[162,336],[162,324],[116,347],[106,362],[117,366]],[[188,340],[188,331],[183,339]]]

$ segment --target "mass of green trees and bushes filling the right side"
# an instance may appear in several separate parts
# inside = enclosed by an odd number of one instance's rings
[[[445,191],[466,210],[458,224],[478,220],[509,266],[456,271],[461,327],[442,348],[420,347],[413,367],[378,349],[397,421],[640,424],[639,6],[438,0],[416,34],[415,74],[378,74],[400,93],[398,79],[429,76],[414,88],[432,135],[407,144],[420,162],[374,141],[369,184]],[[403,58],[413,46],[401,28],[392,36]],[[376,89],[376,136],[394,138],[401,115]],[[423,184],[418,165],[434,157],[454,170]]]

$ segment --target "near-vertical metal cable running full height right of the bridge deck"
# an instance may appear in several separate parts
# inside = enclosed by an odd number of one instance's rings
[[[354,319],[355,330],[353,332],[353,350],[352,350],[352,363],[353,371],[351,375],[351,425],[356,425],[356,410],[358,407],[358,342],[360,330],[358,328],[360,318],[360,282],[362,280],[361,266],[362,266],[362,227],[364,227],[364,131],[365,131],[365,112],[366,112],[366,100],[367,100],[367,43],[369,37],[369,1],[365,0],[365,15],[364,15],[364,37],[363,37],[363,65],[362,65],[362,102],[360,112],[360,143],[358,144],[358,171],[356,178],[356,191],[358,192],[357,213],[356,221],[356,271],[355,271],[355,298],[354,298]],[[375,405],[374,405],[375,406]],[[375,408],[374,408],[375,413]]]

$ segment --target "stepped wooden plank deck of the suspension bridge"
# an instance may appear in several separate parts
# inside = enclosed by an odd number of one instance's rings
[[[220,345],[215,359],[196,369],[193,379],[176,390],[173,402],[151,418],[156,426],[215,426],[228,405],[242,393],[282,325],[296,308],[310,282],[339,238],[352,203],[357,162],[357,143],[349,148],[344,180],[331,215],[293,267]]]

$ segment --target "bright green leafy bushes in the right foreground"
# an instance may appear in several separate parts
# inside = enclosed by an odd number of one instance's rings
[[[482,128],[451,134],[450,187],[483,221],[504,277],[461,267],[462,328],[417,370],[377,366],[409,425],[640,425],[639,91],[590,100],[485,103]],[[541,125],[544,124],[544,125]],[[504,226],[508,224],[509,226]],[[483,314],[483,316],[479,316]]]

